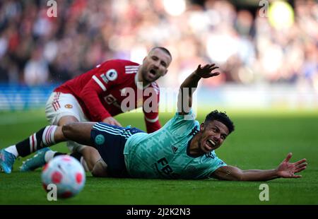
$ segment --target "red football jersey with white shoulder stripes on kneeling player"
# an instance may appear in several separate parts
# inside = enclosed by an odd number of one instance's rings
[[[158,120],[160,89],[155,82],[147,88],[137,83],[138,69],[139,64],[132,61],[105,61],[95,69],[66,81],[54,91],[71,93],[86,117],[93,122],[143,107],[147,131],[151,133],[161,127]]]

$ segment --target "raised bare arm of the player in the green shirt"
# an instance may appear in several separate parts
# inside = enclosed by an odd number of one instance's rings
[[[196,90],[198,83],[201,78],[211,78],[213,76],[218,76],[219,72],[213,72],[218,69],[216,64],[206,64],[201,67],[198,66],[196,71],[189,75],[184,82],[180,85],[179,95],[178,95],[178,112],[179,114],[188,114],[192,107],[192,94]]]

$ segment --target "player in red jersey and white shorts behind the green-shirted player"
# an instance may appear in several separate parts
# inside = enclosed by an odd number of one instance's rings
[[[25,157],[37,150],[40,151],[35,159],[27,160],[21,171],[34,170],[51,160],[54,155],[59,155],[47,147],[66,141],[61,126],[69,122],[105,122],[120,126],[113,116],[126,112],[123,107],[127,107],[128,104],[122,107],[126,100],[131,100],[129,110],[140,107],[139,104],[143,103],[148,133],[160,129],[159,88],[155,81],[165,76],[171,61],[172,57],[167,49],[154,47],[143,59],[142,65],[128,60],[109,60],[66,81],[54,90],[47,101],[45,113],[51,125],[43,127],[16,145],[1,150],[0,169],[10,173],[18,156]],[[145,102],[151,102],[151,107]],[[88,161],[88,169],[93,170],[95,162],[100,159],[97,150],[73,141],[68,141],[67,145],[71,151],[83,154]]]

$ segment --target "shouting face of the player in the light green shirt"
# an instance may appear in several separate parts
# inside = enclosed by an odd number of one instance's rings
[[[200,131],[202,135],[199,139],[199,148],[204,153],[209,153],[219,148],[228,136],[228,127],[217,120],[208,122],[208,124],[201,124]]]

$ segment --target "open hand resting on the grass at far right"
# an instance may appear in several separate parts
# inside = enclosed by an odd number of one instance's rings
[[[298,160],[297,162],[289,162],[292,157],[292,153],[288,153],[287,158],[281,162],[281,164],[277,167],[278,177],[283,178],[300,178],[301,175],[295,175],[297,172],[301,172],[305,170],[307,167],[306,159]]]

